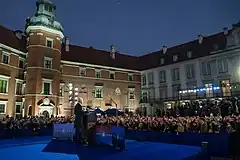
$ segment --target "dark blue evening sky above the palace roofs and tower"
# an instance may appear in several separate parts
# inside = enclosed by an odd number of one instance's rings
[[[1,0],[0,24],[23,29],[36,0]],[[53,0],[72,44],[142,55],[231,27],[240,0]],[[1,35],[0,35],[1,36]]]

